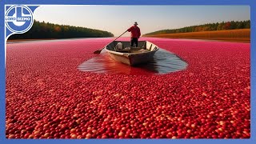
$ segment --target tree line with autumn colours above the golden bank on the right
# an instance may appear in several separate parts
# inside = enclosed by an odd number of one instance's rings
[[[199,26],[186,26],[180,29],[158,30],[145,35],[175,34],[175,33],[198,32],[198,31],[235,30],[235,29],[250,29],[250,20],[236,21],[236,22],[231,21],[231,22],[207,23]]]

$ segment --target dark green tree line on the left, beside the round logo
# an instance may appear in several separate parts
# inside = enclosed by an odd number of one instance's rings
[[[94,30],[81,26],[58,25],[34,20],[34,24],[25,34],[14,34],[9,39],[37,38],[105,38],[114,37],[108,31]]]

